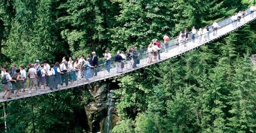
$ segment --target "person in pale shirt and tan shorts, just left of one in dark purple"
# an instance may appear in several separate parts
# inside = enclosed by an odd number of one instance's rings
[[[29,77],[30,77],[30,88],[29,88],[29,91],[28,93],[31,94],[31,90],[32,90],[32,87],[33,85],[35,86],[36,90],[37,90],[37,74],[36,74],[36,69],[35,69],[35,65],[34,64],[31,64],[31,68],[28,70],[28,74],[29,74]]]

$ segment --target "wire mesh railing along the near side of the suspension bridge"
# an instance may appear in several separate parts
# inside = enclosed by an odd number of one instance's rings
[[[249,11],[250,10],[246,10],[246,12]],[[251,12],[247,13],[247,15],[244,16],[244,19],[241,20],[240,25],[238,25],[237,27],[242,26],[243,24],[255,19],[251,18],[251,16],[249,16],[250,14]],[[231,21],[231,18],[224,19],[218,22],[220,27],[217,31],[210,30],[209,32],[206,32],[200,36],[195,36],[195,39],[189,38],[186,41],[180,42],[177,42],[176,39],[172,39],[169,41],[169,45],[167,47],[156,51],[157,54],[148,53],[147,48],[142,48],[138,49],[138,55],[133,56],[130,60],[126,59],[122,60],[121,62],[115,62],[115,56],[113,56],[109,64],[101,63],[95,68],[89,68],[87,66],[87,68],[82,68],[63,74],[57,73],[53,76],[31,79],[27,78],[25,81],[18,82],[2,82],[2,84],[0,85],[1,92],[11,93],[7,93],[5,95],[2,93],[2,96],[4,97],[0,99],[0,102],[56,92],[68,88],[74,88],[85,84],[90,84],[94,81],[118,76],[123,73],[131,72],[133,70],[143,68],[145,66],[160,61],[164,61],[166,59],[169,59],[170,57],[179,55],[195,47],[201,46],[202,44],[205,44],[215,38],[218,38],[219,36],[225,35],[228,32],[236,29],[237,27],[233,27],[231,23],[234,23],[234,21]],[[214,32],[218,32],[217,36],[214,36]],[[209,38],[207,38],[207,35],[209,35]],[[162,45],[164,44],[162,43]],[[158,59],[158,56],[160,56],[160,60]],[[109,72],[107,72],[107,65],[109,67]],[[97,76],[94,76],[95,73],[97,73]],[[9,99],[9,97],[11,99]]]

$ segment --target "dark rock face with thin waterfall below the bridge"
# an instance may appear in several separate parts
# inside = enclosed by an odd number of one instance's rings
[[[87,88],[94,97],[94,100],[85,106],[88,131],[108,133],[116,126],[117,121],[115,101],[111,98],[113,94],[109,92],[109,85],[106,82],[95,83],[87,85]]]

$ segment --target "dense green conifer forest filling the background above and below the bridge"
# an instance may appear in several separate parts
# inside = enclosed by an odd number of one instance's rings
[[[0,0],[0,65],[104,59],[255,0]],[[256,10],[256,5],[255,5]],[[256,15],[256,14],[254,14]],[[189,36],[190,37],[190,36]],[[0,103],[0,132],[256,132],[256,21],[113,78]],[[86,60],[86,57],[85,57]],[[255,62],[255,61],[254,61]],[[0,86],[1,92],[3,87]],[[0,96],[2,98],[2,96]],[[111,110],[111,111],[110,111]]]

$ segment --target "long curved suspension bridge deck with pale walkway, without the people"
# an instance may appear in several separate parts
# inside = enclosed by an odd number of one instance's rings
[[[250,10],[246,10],[246,13],[247,13],[247,15],[245,15],[244,18],[242,18],[240,22],[237,22],[237,26],[235,26],[235,27],[232,24],[233,21],[231,20],[231,17],[223,19],[222,21],[219,21],[218,25],[220,27],[217,30],[217,35],[216,36],[213,36],[214,31],[212,30],[212,26],[209,26],[209,28],[210,28],[210,31],[209,31],[210,38],[206,41],[204,41],[204,40],[202,40],[201,42],[199,41],[201,39],[200,37],[202,37],[204,35],[196,36],[195,40],[189,39],[187,41],[183,41],[182,43],[177,43],[177,40],[175,40],[175,39],[170,40],[169,47],[168,47],[168,52],[165,52],[164,49],[161,50],[161,60],[157,60],[157,61],[154,61],[152,63],[148,63],[147,62],[148,56],[147,56],[147,52],[146,52],[147,48],[141,48],[141,49],[137,50],[137,52],[139,53],[138,54],[138,60],[140,60],[140,63],[137,64],[137,66],[138,66],[137,68],[129,69],[129,67],[127,65],[127,62],[125,62],[123,72],[121,72],[121,73],[116,72],[115,62],[111,61],[110,72],[107,73],[106,72],[106,66],[103,65],[103,63],[102,63],[102,65],[99,65],[98,68],[97,68],[99,70],[98,75],[90,78],[89,80],[86,80],[86,79],[77,80],[77,81],[74,81],[73,84],[69,83],[68,86],[66,86],[66,85],[58,86],[58,88],[55,88],[55,89],[50,89],[49,87],[46,87],[46,90],[41,90],[41,93],[39,93],[39,94],[36,93],[36,91],[33,91],[33,93],[31,93],[31,94],[28,94],[28,92],[26,91],[24,93],[20,93],[20,96],[15,96],[14,94],[12,94],[11,99],[7,99],[6,98],[7,96],[5,98],[1,97],[0,98],[0,103],[1,102],[12,101],[12,100],[17,100],[17,99],[22,99],[22,98],[27,98],[27,97],[34,97],[34,96],[38,96],[38,95],[53,93],[53,92],[57,92],[57,91],[60,91],[60,90],[66,90],[66,89],[70,89],[70,88],[75,88],[75,87],[91,84],[93,82],[97,82],[97,81],[100,81],[100,80],[105,80],[105,79],[108,79],[108,78],[111,78],[111,77],[116,77],[116,76],[119,76],[121,74],[129,73],[129,72],[141,69],[141,68],[145,68],[145,67],[147,67],[149,65],[152,65],[152,64],[163,62],[165,60],[171,59],[172,57],[179,56],[183,53],[191,51],[191,50],[193,50],[195,48],[198,48],[202,45],[210,43],[210,41],[214,41],[216,39],[219,39],[219,38],[229,34],[230,32],[233,32],[234,30],[237,30],[238,28],[241,28],[241,27],[245,26],[245,24],[250,23],[251,21],[255,20],[255,18],[256,18],[255,17],[256,16],[255,12],[253,12],[253,14],[254,14],[253,16],[251,15]],[[112,59],[114,59],[114,57]],[[3,95],[3,92],[0,93],[0,96],[2,96],[2,95]]]

